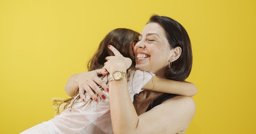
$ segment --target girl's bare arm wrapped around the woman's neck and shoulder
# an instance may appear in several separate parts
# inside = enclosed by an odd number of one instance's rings
[[[171,93],[176,95],[194,96],[197,93],[195,84],[191,82],[180,82],[154,76],[149,80],[143,89],[157,91],[161,93]]]

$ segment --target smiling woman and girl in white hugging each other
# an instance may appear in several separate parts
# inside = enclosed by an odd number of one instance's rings
[[[72,75],[60,115],[21,134],[184,134],[194,114],[189,35],[177,21],[153,15],[141,34],[110,31]]]

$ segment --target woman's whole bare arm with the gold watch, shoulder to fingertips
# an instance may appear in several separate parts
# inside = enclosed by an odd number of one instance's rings
[[[112,46],[110,50],[118,54]],[[116,70],[126,71],[127,62],[110,60],[104,67],[112,74]],[[115,134],[183,134],[195,113],[191,97],[177,96],[150,111],[137,115],[128,93],[127,80],[111,81],[109,84],[110,114]]]

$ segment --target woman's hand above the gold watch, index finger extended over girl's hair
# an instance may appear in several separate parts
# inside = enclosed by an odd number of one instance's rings
[[[132,60],[130,58],[124,57],[115,47],[108,45],[108,48],[115,54],[115,56],[108,56],[104,63],[103,69],[106,69],[110,74],[116,70],[121,70],[126,72],[126,70],[132,65]]]

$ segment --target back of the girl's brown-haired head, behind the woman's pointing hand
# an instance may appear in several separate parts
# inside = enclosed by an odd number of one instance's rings
[[[133,47],[138,41],[139,33],[126,28],[117,28],[110,31],[99,44],[99,49],[90,59],[88,70],[99,69],[106,62],[105,57],[114,55],[108,49],[108,45],[113,45],[124,56],[132,59],[132,66],[135,66],[135,56]]]

